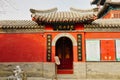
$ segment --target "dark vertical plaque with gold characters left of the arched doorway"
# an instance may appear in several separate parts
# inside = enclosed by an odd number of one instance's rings
[[[47,35],[47,61],[51,61],[51,43],[52,43],[52,35],[48,34]]]

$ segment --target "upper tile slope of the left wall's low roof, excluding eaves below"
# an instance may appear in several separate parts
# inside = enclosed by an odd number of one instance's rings
[[[0,21],[0,28],[2,29],[32,29],[32,28],[40,28],[38,24],[34,21],[29,20],[2,20]]]

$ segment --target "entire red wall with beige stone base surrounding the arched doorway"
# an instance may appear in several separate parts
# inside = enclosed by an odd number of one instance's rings
[[[10,76],[16,65],[20,65],[28,77],[52,78],[55,75],[55,44],[60,37],[82,35],[83,61],[78,61],[77,45],[74,43],[73,74],[58,75],[58,78],[104,78],[118,79],[119,65],[116,61],[86,61],[86,40],[118,40],[119,32],[45,32],[36,34],[0,34],[0,76]],[[52,35],[51,62],[47,62],[47,35]],[[58,38],[56,37],[58,36]],[[56,39],[56,40],[55,40]],[[32,44],[31,44],[32,43]],[[108,50],[109,51],[109,50]],[[48,68],[49,67],[49,68]]]

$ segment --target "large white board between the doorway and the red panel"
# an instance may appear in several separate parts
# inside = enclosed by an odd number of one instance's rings
[[[86,61],[100,61],[99,40],[86,40]]]

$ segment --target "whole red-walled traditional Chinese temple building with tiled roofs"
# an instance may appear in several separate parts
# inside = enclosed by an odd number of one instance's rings
[[[99,12],[30,9],[32,21],[0,21],[0,76],[20,65],[28,77],[119,78],[119,7],[104,1]]]

